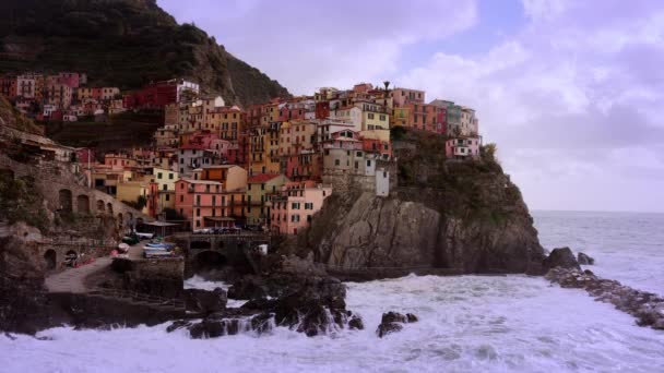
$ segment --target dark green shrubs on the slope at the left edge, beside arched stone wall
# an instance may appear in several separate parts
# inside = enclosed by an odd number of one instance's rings
[[[14,179],[11,173],[0,173],[0,218],[10,224],[25,221],[45,231],[48,215],[42,205],[42,195],[31,178]]]

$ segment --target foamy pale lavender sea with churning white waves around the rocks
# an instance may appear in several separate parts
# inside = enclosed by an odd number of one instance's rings
[[[664,215],[533,212],[542,244],[596,260],[596,274],[664,294]],[[188,287],[226,286],[194,277]],[[580,289],[527,276],[406,276],[348,282],[364,330],[306,337],[285,327],[208,340],[168,324],[58,327],[0,336],[0,372],[664,372],[664,332],[639,327]],[[239,306],[241,302],[234,302]],[[387,311],[419,322],[378,338]]]

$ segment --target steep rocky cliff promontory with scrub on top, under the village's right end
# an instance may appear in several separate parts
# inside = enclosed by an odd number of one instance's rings
[[[521,193],[494,159],[444,159],[444,139],[408,132],[394,141],[399,186],[389,197],[336,193],[299,238],[333,269],[447,268],[541,273],[544,251]]]

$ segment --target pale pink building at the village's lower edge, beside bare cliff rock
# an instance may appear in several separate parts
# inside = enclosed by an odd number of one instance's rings
[[[332,194],[332,186],[316,184],[315,181],[289,182],[272,196],[272,227],[278,233],[297,234],[309,226],[313,214],[323,206],[323,201]]]

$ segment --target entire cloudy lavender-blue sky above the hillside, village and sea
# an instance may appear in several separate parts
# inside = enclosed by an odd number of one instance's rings
[[[158,0],[293,94],[476,109],[531,209],[664,212],[661,0]]]

